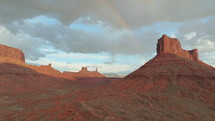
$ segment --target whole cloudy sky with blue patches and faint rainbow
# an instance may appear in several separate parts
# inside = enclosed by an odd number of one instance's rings
[[[215,66],[214,28],[214,0],[0,0],[0,44],[60,71],[127,75],[163,34]]]

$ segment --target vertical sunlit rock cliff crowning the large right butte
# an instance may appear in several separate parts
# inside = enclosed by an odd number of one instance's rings
[[[157,43],[157,55],[159,54],[175,54],[186,59],[199,61],[198,50],[183,50],[178,39],[170,38],[163,35]]]

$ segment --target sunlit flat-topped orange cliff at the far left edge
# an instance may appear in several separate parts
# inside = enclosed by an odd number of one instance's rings
[[[21,50],[0,44],[0,58],[1,57],[7,57],[13,60],[25,62],[25,55]]]

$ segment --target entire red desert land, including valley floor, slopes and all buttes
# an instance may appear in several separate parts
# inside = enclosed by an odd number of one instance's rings
[[[214,121],[215,68],[163,35],[157,55],[124,78],[29,65],[0,45],[1,121]]]

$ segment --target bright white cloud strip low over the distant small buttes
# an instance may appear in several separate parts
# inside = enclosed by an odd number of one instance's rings
[[[113,63],[106,63],[112,61],[111,56],[108,53],[99,54],[83,54],[83,53],[65,53],[63,51],[41,49],[46,53],[46,56],[38,60],[27,59],[26,62],[34,65],[48,65],[52,66],[60,71],[74,71],[77,72],[81,67],[88,67],[90,71],[94,71],[96,68],[102,73],[118,73],[126,75],[133,70],[143,65],[148,58],[138,55],[116,55]]]

